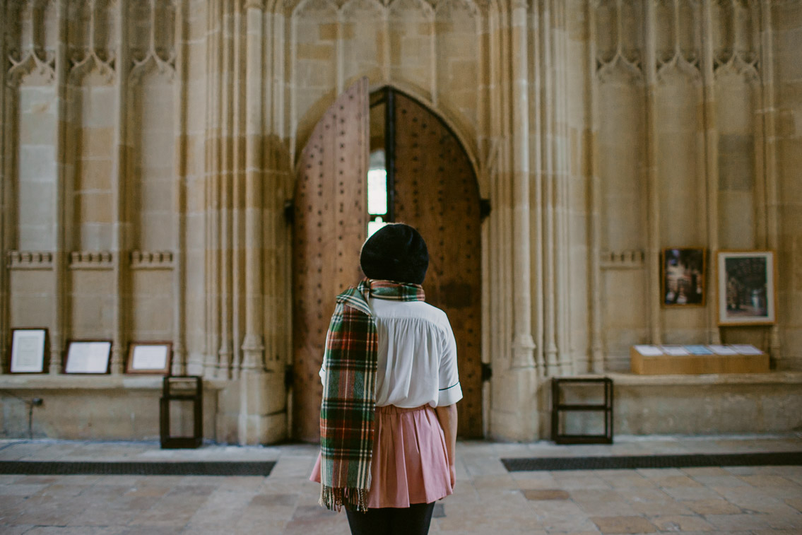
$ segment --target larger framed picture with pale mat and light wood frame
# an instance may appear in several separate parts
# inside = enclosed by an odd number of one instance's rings
[[[772,251],[716,253],[719,325],[772,325],[776,264]]]

